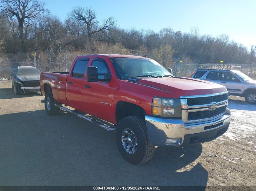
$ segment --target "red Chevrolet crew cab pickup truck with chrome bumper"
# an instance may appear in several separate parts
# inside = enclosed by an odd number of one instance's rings
[[[151,159],[155,146],[211,141],[231,119],[224,86],[174,77],[140,56],[77,56],[68,73],[42,72],[40,87],[48,115],[61,108],[116,131],[118,149],[132,164]]]

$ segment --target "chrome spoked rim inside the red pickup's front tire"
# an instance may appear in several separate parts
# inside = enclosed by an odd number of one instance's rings
[[[134,154],[137,150],[138,140],[131,129],[124,129],[121,135],[122,145],[126,152]]]

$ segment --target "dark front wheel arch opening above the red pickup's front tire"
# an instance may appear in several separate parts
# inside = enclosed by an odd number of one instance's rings
[[[115,120],[116,124],[125,117],[128,116],[139,116],[142,119],[145,119],[146,111],[134,103],[127,101],[118,101],[115,109]]]

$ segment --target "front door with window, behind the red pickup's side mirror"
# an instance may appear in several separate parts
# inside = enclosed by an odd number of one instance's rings
[[[91,66],[98,69],[98,73],[108,73],[110,69],[105,59],[94,58]],[[98,76],[98,79],[104,79],[104,76]],[[83,108],[86,113],[89,113],[98,118],[114,122],[113,116],[113,91],[114,80],[85,82],[83,93]]]

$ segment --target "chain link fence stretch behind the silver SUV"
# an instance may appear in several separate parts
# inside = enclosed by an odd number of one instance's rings
[[[173,65],[173,73],[175,76],[190,77],[196,69],[224,69],[224,70],[239,70],[250,78],[256,80],[256,63],[254,64],[237,64],[237,63],[194,63],[194,62],[175,62]]]

